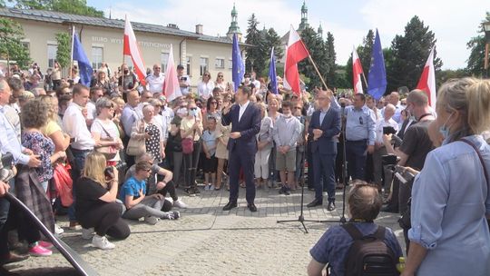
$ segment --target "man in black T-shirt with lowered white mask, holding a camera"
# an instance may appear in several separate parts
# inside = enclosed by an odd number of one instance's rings
[[[422,170],[426,161],[426,155],[433,149],[427,129],[428,125],[435,120],[430,107],[428,98],[425,92],[421,90],[413,90],[407,96],[407,110],[413,114],[417,123],[408,127],[403,142],[399,148],[394,148],[391,144],[391,134],[384,134],[383,141],[385,143],[387,153],[392,153],[400,158],[398,165],[408,166]],[[382,211],[403,213],[407,210],[407,202],[410,197],[410,186],[400,185],[398,181],[393,182],[391,203]]]

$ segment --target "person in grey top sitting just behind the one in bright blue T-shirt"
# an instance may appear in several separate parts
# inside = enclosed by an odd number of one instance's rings
[[[171,206],[181,208],[181,209],[187,208],[187,204],[182,202],[177,196],[177,192],[175,192],[175,184],[172,181],[173,173],[171,173],[171,171],[169,170],[163,169],[158,164],[154,163],[153,159],[154,158],[151,153],[144,153],[138,159],[138,162],[147,162],[150,163],[150,165],[152,166],[152,172],[150,173],[150,177],[147,180],[147,183],[150,182],[150,185],[147,185],[149,186],[147,190],[161,193],[163,197],[167,195],[167,192],[170,193],[171,200],[173,201],[173,203],[168,200],[165,200],[162,207],[163,212],[171,211]],[[135,173],[136,173],[136,165],[134,164],[126,172],[126,176],[124,177],[124,182],[129,180]],[[157,175],[156,185],[154,179],[155,174]],[[154,188],[152,188],[153,185],[155,186]],[[148,192],[148,193],[152,194],[154,192]]]

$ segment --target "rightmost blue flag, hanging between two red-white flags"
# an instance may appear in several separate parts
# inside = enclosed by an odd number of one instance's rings
[[[387,71],[385,69],[385,58],[381,40],[376,30],[376,38],[371,53],[371,66],[368,74],[368,94],[379,100],[387,90]]]

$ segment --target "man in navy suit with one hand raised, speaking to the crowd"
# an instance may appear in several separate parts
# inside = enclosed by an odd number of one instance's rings
[[[228,141],[228,171],[230,173],[230,201],[223,207],[223,211],[229,211],[237,207],[239,193],[240,169],[245,175],[247,185],[247,207],[250,212],[257,212],[254,204],[255,183],[253,182],[253,168],[255,153],[257,153],[257,140],[255,135],[260,132],[260,109],[256,104],[250,103],[250,87],[240,86],[235,101],[223,109],[221,123],[231,123],[230,140]]]

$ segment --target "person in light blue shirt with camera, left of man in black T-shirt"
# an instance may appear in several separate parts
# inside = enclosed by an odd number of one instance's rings
[[[391,173],[383,166],[382,156],[387,154],[387,148],[383,142],[383,134],[395,134],[398,131],[398,123],[393,120],[396,107],[393,104],[387,104],[383,118],[377,120],[376,123],[376,142],[375,152],[373,153],[374,179],[378,187],[384,187],[387,191],[388,183],[391,183]],[[384,174],[383,174],[383,173]],[[382,174],[384,182],[381,182]]]

